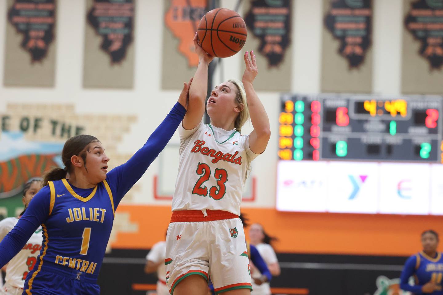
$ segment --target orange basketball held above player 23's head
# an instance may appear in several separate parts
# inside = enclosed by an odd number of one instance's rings
[[[198,41],[208,54],[229,57],[245,45],[246,23],[230,9],[216,8],[204,15],[198,24]]]

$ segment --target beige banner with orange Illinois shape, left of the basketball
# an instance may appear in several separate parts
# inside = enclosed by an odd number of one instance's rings
[[[206,0],[165,0],[162,89],[182,89],[183,81],[194,76],[198,55],[194,34],[206,14]]]

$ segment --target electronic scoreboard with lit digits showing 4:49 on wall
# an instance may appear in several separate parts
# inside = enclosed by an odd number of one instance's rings
[[[443,98],[283,95],[281,160],[442,163]]]

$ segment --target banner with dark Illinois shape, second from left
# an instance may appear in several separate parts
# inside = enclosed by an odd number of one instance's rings
[[[85,88],[132,88],[134,0],[88,0]]]

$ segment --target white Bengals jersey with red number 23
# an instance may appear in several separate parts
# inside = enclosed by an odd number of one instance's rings
[[[180,162],[172,211],[223,210],[240,215],[241,195],[251,161],[249,135],[200,123],[180,124]]]

